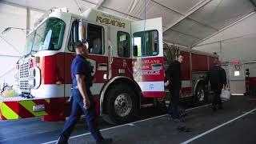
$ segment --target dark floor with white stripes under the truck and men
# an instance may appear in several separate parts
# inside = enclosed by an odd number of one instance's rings
[[[233,96],[224,103],[224,110],[212,112],[210,106],[203,106],[188,111],[186,122],[191,132],[178,132],[178,123],[170,122],[166,115],[152,118],[159,113],[155,110],[142,111],[142,118],[150,118],[123,126],[111,126],[101,122],[101,130],[106,138],[114,138],[115,144],[162,144],[182,143],[212,130],[225,122],[256,108],[256,97]],[[149,113],[150,111],[150,113]],[[38,118],[18,121],[0,121],[0,143],[54,143],[58,138],[64,122],[40,122]],[[256,143],[256,110],[230,122],[209,134],[202,135],[190,143]],[[82,134],[82,135],[81,135]],[[70,143],[94,143],[84,122],[80,121],[70,138]]]

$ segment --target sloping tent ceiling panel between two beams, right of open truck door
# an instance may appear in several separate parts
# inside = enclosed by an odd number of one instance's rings
[[[194,46],[254,10],[254,5],[249,0],[212,0],[167,30],[165,35],[170,39],[166,40],[181,45]],[[191,39],[184,38],[185,40],[182,42],[175,41],[177,39],[175,36],[169,36],[173,35],[174,30],[185,34],[186,37],[190,36]],[[195,40],[196,38],[197,40]]]

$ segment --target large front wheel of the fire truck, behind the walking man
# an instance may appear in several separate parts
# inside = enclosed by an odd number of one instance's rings
[[[106,110],[115,124],[132,122],[138,115],[138,96],[131,86],[113,86],[107,94]]]

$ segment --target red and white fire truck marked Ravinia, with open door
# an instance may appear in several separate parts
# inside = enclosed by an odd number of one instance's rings
[[[74,43],[84,39],[96,78],[91,91],[102,118],[130,122],[140,108],[164,99],[166,63],[177,54],[184,56],[182,98],[206,101],[203,77],[217,55],[163,43],[162,18],[132,21],[94,9],[80,15],[53,9],[35,25],[26,38],[27,53],[17,63],[19,96],[0,98],[2,120],[64,120],[70,111]]]

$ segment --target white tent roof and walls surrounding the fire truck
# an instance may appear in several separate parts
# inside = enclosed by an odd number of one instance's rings
[[[230,54],[226,50],[231,49],[244,51],[239,47],[248,47],[245,58],[249,58],[255,46],[255,3],[255,0],[4,0],[0,1],[0,31],[9,26],[31,29],[52,7],[67,7],[75,14],[94,7],[142,20],[146,6],[146,18],[162,17],[166,42],[218,54]],[[22,55],[25,39],[26,30],[0,34],[1,83],[14,82],[15,62]]]

